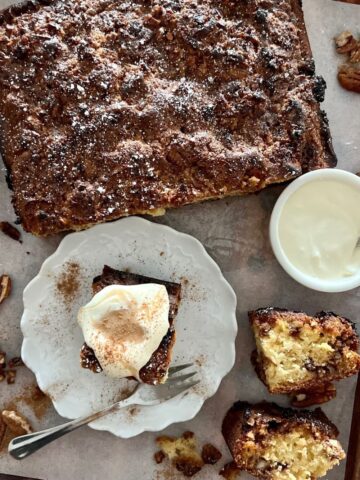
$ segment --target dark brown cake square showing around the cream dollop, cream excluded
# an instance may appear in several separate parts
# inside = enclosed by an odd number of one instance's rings
[[[140,285],[146,283],[164,285],[169,295],[170,302],[169,330],[147,364],[144,365],[139,372],[139,377],[142,382],[156,385],[164,383],[167,378],[172,349],[175,344],[176,333],[174,321],[180,304],[181,285],[178,283],[166,282],[165,280],[145,277],[135,273],[121,272],[105,265],[102,274],[94,278],[92,288],[95,295],[109,285]],[[81,348],[80,362],[83,368],[92,370],[94,373],[100,373],[102,371],[102,367],[97,360],[94,351],[89,348],[86,343],[84,343]]]

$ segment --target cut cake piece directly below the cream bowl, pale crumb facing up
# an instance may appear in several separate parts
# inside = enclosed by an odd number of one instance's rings
[[[360,370],[359,337],[346,318],[269,307],[249,312],[249,319],[256,340],[255,368],[271,393],[302,392],[303,401],[307,392],[310,398],[314,392],[315,400],[323,393],[325,401],[332,381]],[[332,392],[334,396],[334,387]]]

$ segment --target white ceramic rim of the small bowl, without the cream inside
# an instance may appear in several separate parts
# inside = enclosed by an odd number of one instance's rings
[[[316,180],[332,180],[347,183],[360,191],[360,177],[338,169],[316,170],[306,173],[292,182],[278,198],[270,220],[270,241],[274,254],[283,269],[297,282],[320,292],[345,292],[360,286],[360,271],[351,276],[335,280],[323,280],[312,277],[296,268],[286,256],[279,238],[279,220],[289,198],[302,186]]]

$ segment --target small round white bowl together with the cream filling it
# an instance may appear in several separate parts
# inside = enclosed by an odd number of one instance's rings
[[[280,195],[270,241],[281,266],[299,283],[322,292],[360,286],[360,178],[317,170]]]

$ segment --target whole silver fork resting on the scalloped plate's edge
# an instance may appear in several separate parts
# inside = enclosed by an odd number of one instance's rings
[[[40,432],[16,437],[10,442],[8,451],[10,455],[17,460],[22,460],[57,438],[108,415],[109,413],[114,413],[121,408],[129,407],[130,405],[157,405],[170,398],[181,395],[189,390],[189,388],[194,387],[199,383],[198,380],[189,381],[197,372],[176,375],[182,370],[192,366],[192,363],[188,363],[170,368],[168,380],[161,385],[153,386],[139,383],[128,398],[116,402],[100,412],[92,413],[91,415],[76,420],[71,420],[70,422],[53,428],[48,428],[47,430],[41,430]]]

